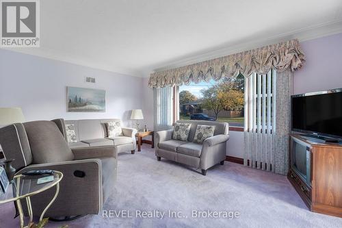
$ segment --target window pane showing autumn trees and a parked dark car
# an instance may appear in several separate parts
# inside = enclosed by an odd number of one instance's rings
[[[244,126],[245,77],[224,78],[179,87],[179,118]]]

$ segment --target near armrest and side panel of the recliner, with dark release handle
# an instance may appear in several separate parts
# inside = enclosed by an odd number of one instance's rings
[[[60,192],[45,216],[59,217],[75,214],[98,214],[103,205],[101,160],[74,160],[47,164],[32,164],[17,174],[28,170],[51,169],[63,173]],[[75,176],[75,171],[83,175]],[[41,214],[53,198],[56,188],[50,188],[31,197],[34,213]],[[68,205],[66,207],[66,205]],[[24,208],[27,214],[26,208]]]

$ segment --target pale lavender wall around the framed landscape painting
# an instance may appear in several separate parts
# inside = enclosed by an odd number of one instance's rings
[[[66,86],[106,90],[106,112],[66,112]],[[142,108],[142,78],[0,49],[0,107],[21,107],[27,121],[121,118],[131,125],[130,110]]]

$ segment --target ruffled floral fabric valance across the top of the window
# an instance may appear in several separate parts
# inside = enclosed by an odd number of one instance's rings
[[[181,66],[166,71],[152,73],[148,86],[188,85],[191,82],[220,80],[223,77],[236,77],[241,73],[248,77],[252,73],[266,74],[271,68],[276,71],[297,71],[303,66],[305,55],[297,39],[268,45],[259,49],[227,55],[213,60]]]

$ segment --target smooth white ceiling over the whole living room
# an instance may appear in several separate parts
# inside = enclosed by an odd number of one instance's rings
[[[140,77],[342,31],[341,0],[42,0],[40,8],[40,48],[14,51]]]

